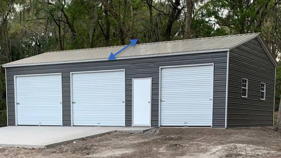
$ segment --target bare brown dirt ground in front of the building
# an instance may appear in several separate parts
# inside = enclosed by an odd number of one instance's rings
[[[51,148],[0,148],[0,157],[281,157],[281,134],[244,129],[158,128],[112,133]]]

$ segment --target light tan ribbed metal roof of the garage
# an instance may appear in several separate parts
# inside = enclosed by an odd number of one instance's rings
[[[135,47],[130,46],[129,48],[125,49],[123,52],[118,54],[116,58],[118,60],[200,52],[227,51],[256,37],[259,37],[259,33],[137,44]],[[115,53],[123,47],[124,46],[114,46],[46,52],[4,64],[3,67],[104,61],[108,60],[108,56],[111,52]]]

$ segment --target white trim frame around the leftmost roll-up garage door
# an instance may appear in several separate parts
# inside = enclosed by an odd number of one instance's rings
[[[25,76],[47,76],[47,75],[60,75],[61,76],[61,126],[63,126],[63,102],[62,102],[62,73],[49,73],[49,74],[28,74],[28,75],[14,75],[14,99],[15,99],[15,126],[18,125],[18,105],[17,105],[17,77]],[[7,110],[8,111],[8,110]]]

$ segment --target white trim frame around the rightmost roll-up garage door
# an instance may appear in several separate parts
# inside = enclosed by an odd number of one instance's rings
[[[161,69],[162,68],[176,68],[176,67],[192,67],[192,66],[206,66],[206,65],[212,65],[213,66],[213,98],[212,98],[212,124],[211,127],[213,127],[213,108],[214,108],[214,75],[215,75],[215,69],[214,69],[214,63],[206,63],[206,64],[190,64],[190,65],[174,65],[174,66],[160,66],[159,67],[159,98],[158,98],[158,126],[161,126]]]

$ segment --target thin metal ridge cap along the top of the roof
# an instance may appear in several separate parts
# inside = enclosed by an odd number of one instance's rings
[[[195,39],[184,39],[184,40],[174,40],[174,41],[161,41],[161,42],[151,42],[151,43],[141,43],[136,44],[139,45],[151,45],[151,44],[161,44],[161,43],[172,43],[172,42],[183,42],[183,41],[195,41],[195,40],[203,40],[203,39],[213,39],[213,38],[225,38],[225,37],[233,37],[233,36],[246,36],[246,35],[259,35],[260,33],[247,33],[247,34],[236,34],[236,35],[225,35],[225,36],[213,36],[213,37],[202,37],[202,38],[195,38]],[[45,53],[59,53],[59,52],[71,52],[71,51],[82,51],[82,50],[97,50],[97,49],[104,49],[104,48],[118,48],[124,47],[126,45],[121,46],[108,46],[108,47],[96,47],[96,48],[83,48],[83,49],[72,49],[72,50],[63,50],[63,51],[49,51]]]

